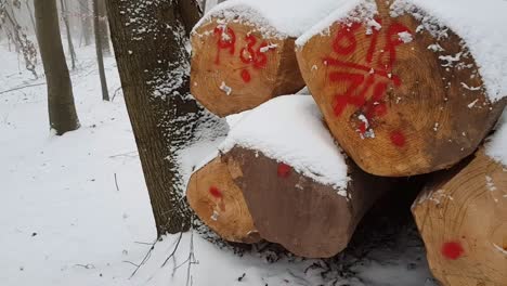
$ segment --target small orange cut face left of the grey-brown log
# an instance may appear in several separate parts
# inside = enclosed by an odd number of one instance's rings
[[[249,244],[260,240],[242,191],[220,157],[194,172],[186,198],[197,217],[223,239]]]

